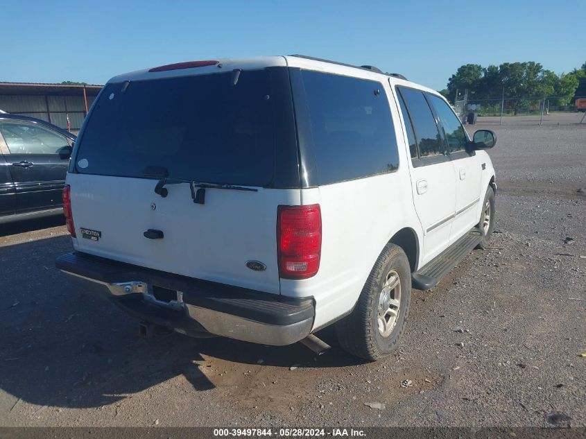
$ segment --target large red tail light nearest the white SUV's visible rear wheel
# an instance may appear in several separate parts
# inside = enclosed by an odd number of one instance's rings
[[[307,279],[318,273],[322,249],[320,205],[279,206],[277,255],[279,276]]]

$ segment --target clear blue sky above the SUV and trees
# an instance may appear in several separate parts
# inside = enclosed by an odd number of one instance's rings
[[[302,53],[442,89],[467,63],[560,74],[586,62],[584,0],[1,0],[0,11],[0,81],[103,84],[171,62]]]

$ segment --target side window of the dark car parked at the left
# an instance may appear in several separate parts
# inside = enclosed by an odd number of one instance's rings
[[[1,122],[0,132],[10,154],[58,154],[69,146],[64,136],[26,122]]]

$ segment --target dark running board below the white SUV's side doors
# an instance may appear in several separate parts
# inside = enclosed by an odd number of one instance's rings
[[[476,227],[467,232],[458,241],[429,261],[426,266],[413,273],[411,276],[413,288],[425,291],[436,286],[442,277],[447,275],[469,252],[472,252],[478,246],[482,236],[483,232]]]

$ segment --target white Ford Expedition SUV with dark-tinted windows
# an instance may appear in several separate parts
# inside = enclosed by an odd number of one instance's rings
[[[495,141],[370,66],[291,55],[123,74],[76,141],[75,251],[57,266],[143,331],[288,345],[335,322],[345,350],[379,359],[411,286],[490,239]]]

